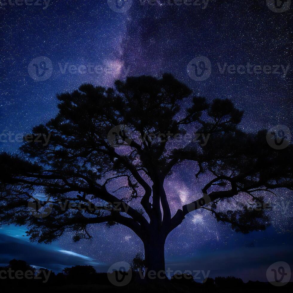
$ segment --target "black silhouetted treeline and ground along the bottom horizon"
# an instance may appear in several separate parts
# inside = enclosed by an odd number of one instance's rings
[[[107,273],[97,273],[91,265],[76,265],[55,274],[46,268],[34,268],[23,260],[11,260],[0,267],[0,288],[10,292],[18,288],[22,292],[42,289],[42,292],[92,292],[111,290],[115,292],[292,292],[293,283],[276,287],[270,283],[249,281],[244,283],[235,277],[207,278],[203,283],[194,281],[192,275],[176,274],[167,283],[144,283],[137,271],[132,272],[132,281],[124,287],[113,286]]]

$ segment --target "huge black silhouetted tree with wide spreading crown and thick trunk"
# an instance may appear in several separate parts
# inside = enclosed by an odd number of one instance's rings
[[[115,89],[82,85],[57,98],[57,116],[25,137],[19,154],[0,158],[1,222],[27,225],[32,241],[67,229],[78,241],[92,237],[91,225],[121,224],[142,240],[146,268],[164,271],[165,240],[187,214],[205,209],[236,231],[264,230],[263,210],[219,203],[293,187],[292,146],[272,148],[266,130],[243,132],[243,112],[230,100],[207,103],[170,74],[128,77]],[[202,135],[177,141],[189,132]],[[173,213],[164,182],[186,160],[206,183]]]

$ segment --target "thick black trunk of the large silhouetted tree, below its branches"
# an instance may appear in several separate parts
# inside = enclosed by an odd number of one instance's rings
[[[166,280],[165,238],[154,235],[144,240],[145,279]]]

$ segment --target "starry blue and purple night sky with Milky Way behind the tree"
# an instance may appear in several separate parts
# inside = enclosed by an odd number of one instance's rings
[[[265,0],[191,1],[199,5],[126,0],[122,8],[114,2],[51,0],[12,6],[1,0],[6,3],[0,5],[1,151],[17,152],[16,134],[30,133],[33,126],[56,115],[57,93],[83,83],[112,86],[126,76],[159,77],[164,72],[209,101],[230,98],[245,110],[240,124],[245,131],[279,124],[292,131],[292,7],[278,13]],[[211,64],[210,76],[203,81],[187,71],[189,62],[199,56]],[[33,78],[30,70],[32,60],[39,57],[51,61],[51,74],[44,81]],[[225,63],[237,67],[248,62],[277,65],[279,74],[230,74],[219,69]],[[288,69],[286,74],[283,68]],[[170,178],[176,190],[166,182],[173,212],[194,194],[194,173],[186,163]],[[274,203],[272,225],[247,235],[217,223],[207,211],[191,213],[167,238],[166,266],[210,270],[210,277],[233,275],[244,281],[266,281],[266,269],[277,261],[293,267],[292,192],[279,190],[278,198],[268,201]],[[52,245],[39,245],[23,236],[25,227],[2,226],[0,264],[18,258],[55,271],[78,264],[106,271],[143,250],[128,228],[106,229],[101,224],[92,229],[91,240],[73,243],[69,231]]]

